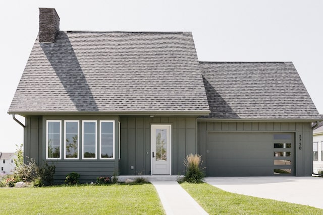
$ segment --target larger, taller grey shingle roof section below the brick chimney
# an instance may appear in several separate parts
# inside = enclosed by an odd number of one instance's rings
[[[60,31],[34,43],[9,113],[167,112],[209,107],[190,32]]]

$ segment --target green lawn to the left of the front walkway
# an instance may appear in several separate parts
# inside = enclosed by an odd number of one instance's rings
[[[152,184],[0,188],[1,214],[165,214]]]

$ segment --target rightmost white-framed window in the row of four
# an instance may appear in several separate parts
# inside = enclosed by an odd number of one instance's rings
[[[114,159],[115,122],[100,121],[100,159]]]

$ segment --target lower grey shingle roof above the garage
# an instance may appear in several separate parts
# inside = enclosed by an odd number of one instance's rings
[[[317,119],[292,62],[200,62],[210,116],[220,119]]]

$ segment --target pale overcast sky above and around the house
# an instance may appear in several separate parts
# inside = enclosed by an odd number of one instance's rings
[[[321,0],[1,1],[0,152],[23,143],[7,111],[38,33],[38,8],[55,8],[61,30],[191,31],[201,61],[292,61],[323,114]]]

